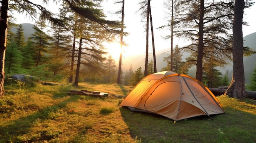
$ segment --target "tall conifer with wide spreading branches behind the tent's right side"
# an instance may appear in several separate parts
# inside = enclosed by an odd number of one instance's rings
[[[203,58],[211,54],[207,49],[214,47],[216,57],[223,61],[231,58],[231,33],[233,3],[211,2],[205,0],[177,1],[175,18],[175,33],[185,37],[192,43],[186,50],[196,52],[193,60],[196,62],[196,79],[202,81]],[[214,14],[213,14],[214,13]],[[182,29],[182,30],[178,30]],[[220,55],[218,55],[221,53]],[[217,56],[218,55],[218,56]],[[223,62],[222,62],[223,63]]]

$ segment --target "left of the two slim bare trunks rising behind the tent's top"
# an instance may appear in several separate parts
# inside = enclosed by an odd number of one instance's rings
[[[148,0],[148,3],[150,0]],[[149,4],[147,9],[147,24],[146,24],[146,58],[145,58],[145,70],[144,70],[144,76],[146,77],[148,75],[148,23],[149,23]]]

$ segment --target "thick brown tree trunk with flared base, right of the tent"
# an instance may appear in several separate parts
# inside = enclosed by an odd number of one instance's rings
[[[243,64],[243,13],[245,1],[236,0],[233,21],[233,77],[225,95],[234,98],[247,97],[245,93],[245,71]]]

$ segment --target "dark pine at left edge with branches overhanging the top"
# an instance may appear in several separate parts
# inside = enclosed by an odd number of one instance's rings
[[[13,4],[9,7],[9,0],[1,1],[1,21],[0,21],[0,97],[4,95],[4,56],[6,51],[6,39],[7,39],[7,11],[9,9],[15,10],[19,13],[24,11],[29,14],[32,19],[37,19],[39,14],[39,19],[45,22],[49,20],[51,24],[60,24],[64,26],[62,20],[54,18],[54,14],[48,11],[45,7],[34,4],[28,0],[10,0]],[[49,0],[44,0],[43,3],[48,3]],[[81,15],[84,18],[87,18],[89,21],[96,22],[100,25],[101,28],[106,29],[109,33],[120,33],[118,28],[121,26],[120,22],[106,20],[105,15],[102,12],[102,9],[95,8],[99,6],[93,2],[86,1],[84,6],[79,7],[76,3],[77,1],[70,2],[69,0],[62,0],[63,3],[67,3],[68,8],[70,8],[75,13]],[[25,6],[25,7],[24,7]],[[39,11],[39,12],[38,12]],[[39,55],[39,54],[38,54]],[[38,63],[39,64],[39,63]]]

